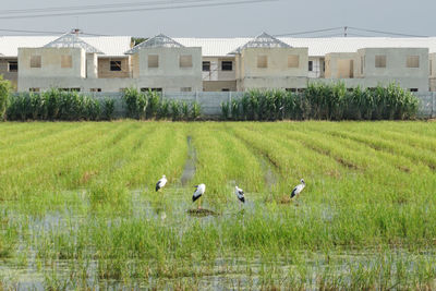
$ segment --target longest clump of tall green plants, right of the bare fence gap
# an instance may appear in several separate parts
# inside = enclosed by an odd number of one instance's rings
[[[396,84],[348,90],[343,83],[311,83],[304,93],[251,90],[221,105],[223,120],[404,120],[419,100]]]

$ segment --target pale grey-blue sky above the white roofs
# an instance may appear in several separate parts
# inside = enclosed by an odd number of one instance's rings
[[[436,0],[279,0],[244,5],[136,11],[106,15],[1,19],[1,16],[11,15],[4,14],[4,10],[150,1],[156,0],[76,0],[74,2],[2,0],[0,29],[68,32],[78,23],[78,27],[85,33],[104,35],[149,37],[164,33],[171,37],[237,37],[255,36],[262,32],[278,35],[354,26],[436,36]],[[338,33],[340,31],[317,35],[330,36]],[[350,31],[350,33],[367,35],[358,31]],[[0,35],[22,34],[0,31]]]

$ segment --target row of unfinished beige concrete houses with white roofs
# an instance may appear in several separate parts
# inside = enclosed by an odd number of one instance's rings
[[[436,90],[436,38],[0,37],[0,74],[17,92],[300,90],[398,83]]]

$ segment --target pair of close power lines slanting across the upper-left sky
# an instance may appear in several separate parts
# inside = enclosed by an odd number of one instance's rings
[[[160,8],[102,10],[102,11],[78,11],[78,12],[66,12],[66,13],[46,13],[46,14],[31,14],[31,15],[11,15],[11,16],[0,16],[0,20],[36,19],[36,17],[72,16],[72,15],[96,15],[96,14],[111,14],[111,13],[157,11],[157,10],[178,10],[178,9],[189,9],[189,8],[242,5],[242,4],[276,2],[276,1],[279,1],[279,0],[244,0],[244,1],[231,1],[231,2],[223,2],[223,3],[186,4],[186,5],[160,7]]]

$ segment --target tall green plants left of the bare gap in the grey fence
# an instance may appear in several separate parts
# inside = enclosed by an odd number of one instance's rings
[[[4,96],[8,96],[8,94]],[[197,120],[201,117],[201,107],[197,102],[166,100],[156,92],[143,93],[136,88],[126,89],[121,104],[125,109],[125,114],[121,113],[118,118],[179,121]],[[10,121],[101,121],[113,119],[114,110],[116,99],[113,98],[98,99],[76,92],[62,92],[52,88],[40,94],[22,93],[11,95],[5,117]]]

